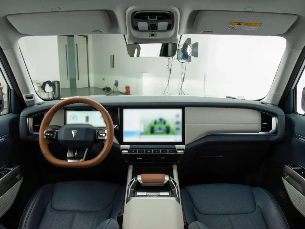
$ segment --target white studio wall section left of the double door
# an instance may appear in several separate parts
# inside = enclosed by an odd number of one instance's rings
[[[32,81],[59,80],[57,36],[23,37],[19,46]]]

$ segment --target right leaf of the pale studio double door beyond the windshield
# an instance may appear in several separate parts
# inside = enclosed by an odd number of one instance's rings
[[[88,87],[87,38],[74,35],[76,88]]]

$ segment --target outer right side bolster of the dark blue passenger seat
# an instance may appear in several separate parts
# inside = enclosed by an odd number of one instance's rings
[[[254,187],[252,191],[267,227],[269,229],[289,229],[284,213],[271,193],[260,187]]]

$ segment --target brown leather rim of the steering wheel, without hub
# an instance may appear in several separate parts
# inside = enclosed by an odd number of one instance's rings
[[[83,103],[88,104],[95,109],[97,109],[103,116],[104,122],[106,124],[106,130],[107,130],[107,139],[104,141],[104,147],[102,151],[97,155],[95,158],[88,160],[88,161],[81,161],[81,162],[68,162],[65,160],[60,160],[55,158],[52,153],[50,152],[48,148],[49,141],[45,140],[44,133],[45,130],[49,129],[49,124],[52,121],[53,116],[56,114],[57,111],[62,109],[63,107],[70,105],[70,104],[77,104],[77,103]],[[75,97],[75,98],[69,98],[60,101],[59,103],[55,104],[44,116],[40,129],[39,129],[39,146],[41,149],[42,154],[47,159],[48,162],[50,162],[53,165],[59,166],[59,167],[66,167],[66,168],[88,168],[95,166],[102,162],[107,154],[109,153],[112,144],[113,144],[113,136],[114,136],[114,128],[113,128],[113,122],[112,118],[110,117],[108,111],[98,102],[91,100],[89,98],[84,97]]]

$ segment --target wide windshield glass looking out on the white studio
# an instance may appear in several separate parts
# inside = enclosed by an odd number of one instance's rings
[[[130,94],[249,100],[267,95],[286,45],[274,36],[183,35],[179,47],[188,38],[188,61],[178,54],[130,57],[123,35],[31,36],[19,45],[44,99]]]

